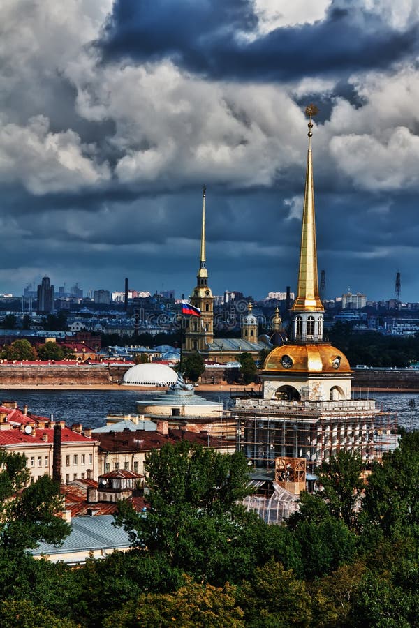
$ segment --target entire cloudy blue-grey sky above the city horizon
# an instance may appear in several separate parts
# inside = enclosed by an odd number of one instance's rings
[[[279,7],[279,8],[278,8]],[[20,0],[3,8],[0,290],[296,289],[307,119],[318,269],[419,301],[419,3]],[[29,96],[28,96],[29,95]]]

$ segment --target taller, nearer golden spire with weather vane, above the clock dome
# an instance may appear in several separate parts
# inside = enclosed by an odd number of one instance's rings
[[[309,149],[307,153],[304,207],[302,212],[298,290],[293,310],[297,312],[323,312],[324,308],[318,296],[316,220],[314,214],[313,162],[311,158],[312,118],[316,115],[318,109],[315,105],[309,105],[305,112],[309,117]]]

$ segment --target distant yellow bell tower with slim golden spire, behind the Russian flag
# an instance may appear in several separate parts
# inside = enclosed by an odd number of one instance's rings
[[[206,351],[214,339],[214,297],[208,287],[208,271],[205,253],[205,196],[203,187],[203,218],[201,226],[200,262],[196,287],[190,297],[191,305],[200,310],[200,316],[191,316],[185,333],[186,351]]]

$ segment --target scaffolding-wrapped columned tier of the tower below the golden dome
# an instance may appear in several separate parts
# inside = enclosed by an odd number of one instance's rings
[[[371,463],[397,447],[397,415],[378,410],[369,400],[239,399],[230,417],[235,419],[236,450],[258,469],[274,470],[281,458],[300,458],[314,472],[339,451],[352,451]]]

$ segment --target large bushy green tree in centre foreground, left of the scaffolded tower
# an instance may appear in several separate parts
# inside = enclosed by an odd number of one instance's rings
[[[200,581],[222,584],[248,574],[260,546],[253,531],[263,522],[236,504],[251,492],[246,458],[181,441],[152,450],[145,470],[147,516],[123,502],[116,518],[131,542]]]

